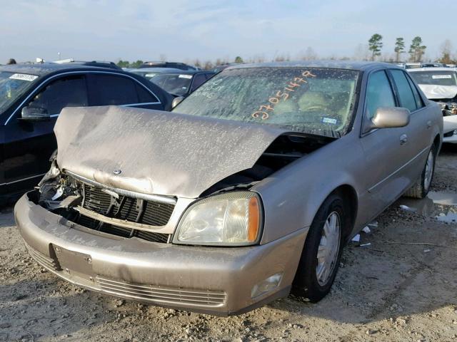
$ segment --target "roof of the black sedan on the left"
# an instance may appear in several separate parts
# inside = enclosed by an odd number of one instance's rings
[[[114,73],[122,73],[121,70],[111,68],[100,68],[97,66],[84,66],[74,63],[23,63],[12,64],[9,66],[0,66],[0,71],[8,71],[11,73],[26,73],[29,75],[45,76],[49,73],[59,71],[110,71]]]

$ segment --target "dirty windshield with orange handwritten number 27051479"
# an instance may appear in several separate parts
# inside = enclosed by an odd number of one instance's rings
[[[351,128],[358,75],[333,68],[228,69],[173,111],[341,137]]]

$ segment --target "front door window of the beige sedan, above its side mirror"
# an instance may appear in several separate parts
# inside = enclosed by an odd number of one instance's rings
[[[395,98],[385,71],[376,71],[368,79],[366,117],[373,118],[380,107],[395,107]]]

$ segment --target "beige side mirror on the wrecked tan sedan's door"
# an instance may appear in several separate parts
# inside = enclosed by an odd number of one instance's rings
[[[371,120],[366,120],[364,132],[374,128],[405,127],[409,123],[409,110],[400,107],[380,107]]]

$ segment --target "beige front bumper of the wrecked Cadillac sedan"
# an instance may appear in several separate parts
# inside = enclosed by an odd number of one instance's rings
[[[228,316],[287,296],[307,229],[253,247],[192,247],[120,238],[69,222],[19,199],[14,217],[36,261],[73,284],[174,309]],[[283,273],[251,298],[255,284]]]

